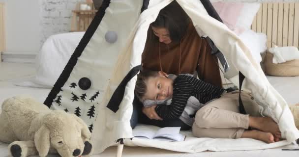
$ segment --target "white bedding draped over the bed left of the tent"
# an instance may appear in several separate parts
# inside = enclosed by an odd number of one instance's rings
[[[16,85],[52,88],[85,32],[50,36],[36,57],[36,76]]]

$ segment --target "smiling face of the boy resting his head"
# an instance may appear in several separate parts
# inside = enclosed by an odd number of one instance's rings
[[[144,100],[165,100],[172,98],[173,95],[173,80],[166,77],[167,74],[159,72],[158,77],[148,78],[146,81],[147,92]]]

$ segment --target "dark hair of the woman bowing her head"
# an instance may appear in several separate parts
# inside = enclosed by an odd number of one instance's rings
[[[179,6],[179,3],[174,0],[169,5],[160,10],[157,19],[150,24],[153,27],[165,27],[169,30],[170,39],[174,42],[179,42],[185,35],[185,32],[190,23],[190,19],[185,11]],[[151,30],[151,27],[149,27]],[[151,31],[152,32],[152,31]],[[151,33],[152,39],[157,37]]]

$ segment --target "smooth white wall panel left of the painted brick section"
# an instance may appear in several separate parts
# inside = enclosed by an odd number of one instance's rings
[[[37,0],[2,0],[6,5],[6,52],[38,52],[40,45]]]

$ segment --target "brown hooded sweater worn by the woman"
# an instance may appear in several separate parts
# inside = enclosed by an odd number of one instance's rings
[[[175,75],[193,74],[197,71],[200,79],[222,87],[218,60],[216,56],[211,55],[209,44],[200,38],[192,23],[180,43],[152,42],[151,33],[149,27],[148,39],[142,54],[143,68]]]

